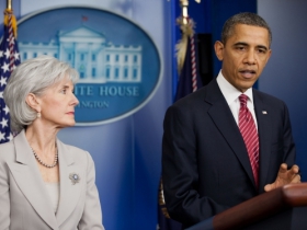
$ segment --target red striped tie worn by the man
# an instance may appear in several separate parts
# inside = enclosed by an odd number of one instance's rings
[[[259,171],[259,138],[258,131],[255,129],[254,120],[252,115],[247,107],[248,96],[246,94],[241,94],[239,96],[240,101],[240,111],[239,111],[239,129],[243,137],[250,164],[254,177],[255,185],[258,186],[258,171]]]

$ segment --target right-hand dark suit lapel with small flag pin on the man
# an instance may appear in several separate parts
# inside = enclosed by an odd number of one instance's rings
[[[259,191],[263,192],[265,186],[265,177],[270,168],[270,158],[271,158],[271,122],[270,114],[268,114],[268,108],[260,94],[257,91],[253,91],[253,101],[255,108],[255,116],[258,123],[258,133],[259,133],[259,145],[260,145],[260,164],[259,164]]]

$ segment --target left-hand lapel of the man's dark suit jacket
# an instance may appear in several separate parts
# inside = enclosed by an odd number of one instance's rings
[[[216,80],[208,84],[205,101],[212,104],[212,107],[208,110],[211,118],[224,136],[225,140],[228,142],[229,147],[232,149],[234,153],[237,156],[249,179],[255,186],[243,138]]]

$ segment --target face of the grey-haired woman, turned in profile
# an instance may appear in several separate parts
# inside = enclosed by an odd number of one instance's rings
[[[64,128],[75,125],[75,106],[79,103],[73,84],[67,78],[47,88],[38,99],[41,119],[45,125]]]

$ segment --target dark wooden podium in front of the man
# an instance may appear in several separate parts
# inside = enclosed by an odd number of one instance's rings
[[[306,230],[307,183],[263,193],[189,228],[198,229]]]

